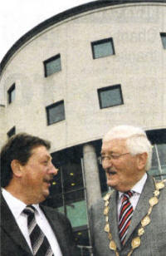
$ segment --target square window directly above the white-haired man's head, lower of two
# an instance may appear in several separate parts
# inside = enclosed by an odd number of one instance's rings
[[[120,85],[100,88],[98,89],[98,96],[100,109],[124,104]]]

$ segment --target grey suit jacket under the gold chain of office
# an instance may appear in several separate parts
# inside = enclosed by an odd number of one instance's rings
[[[129,225],[129,230],[125,239],[125,246],[121,247],[118,219],[117,219],[117,199],[118,193],[115,191],[110,196],[110,230],[117,244],[120,256],[126,256],[131,249],[131,240],[137,236],[141,219],[148,213],[149,199],[154,196],[154,180],[148,175],[144,185],[144,190],[140,195],[139,202],[134,210],[134,214]],[[115,252],[109,248],[109,239],[105,228],[105,217],[103,214],[103,199],[97,202],[90,209],[91,235],[95,256],[115,256]],[[141,244],[138,249],[134,249],[132,256],[166,256],[166,187],[160,190],[159,204],[154,205],[150,214],[151,222],[144,228],[141,236]]]

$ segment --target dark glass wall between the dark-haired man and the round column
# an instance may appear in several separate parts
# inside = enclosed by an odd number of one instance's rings
[[[70,219],[76,244],[81,256],[89,256],[88,219],[85,202],[85,187],[81,166],[81,148],[72,147],[51,155],[58,174],[44,204],[51,206]]]

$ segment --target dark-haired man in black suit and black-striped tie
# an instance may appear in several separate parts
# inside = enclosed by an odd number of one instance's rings
[[[55,209],[40,205],[57,169],[47,140],[25,133],[1,150],[1,255],[77,255],[71,224]]]

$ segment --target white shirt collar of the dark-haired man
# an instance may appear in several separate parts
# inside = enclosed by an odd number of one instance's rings
[[[7,202],[8,207],[11,209],[12,214],[14,215],[15,219],[18,219],[20,214],[22,214],[23,209],[27,206],[27,204],[23,203],[20,199],[17,199],[7,190],[2,188],[2,195]],[[36,209],[37,213],[40,213],[39,204],[32,204]]]

